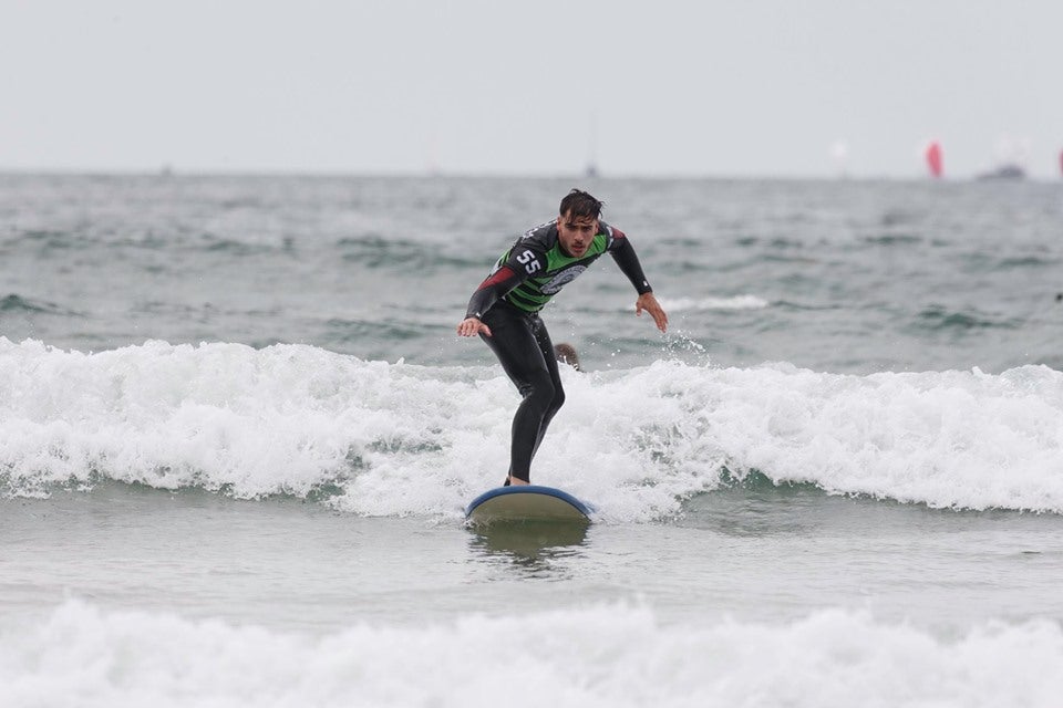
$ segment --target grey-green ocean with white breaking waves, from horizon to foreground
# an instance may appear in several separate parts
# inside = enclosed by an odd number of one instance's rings
[[[533,481],[455,335],[571,187]],[[0,175],[0,706],[1057,706],[1063,185]]]

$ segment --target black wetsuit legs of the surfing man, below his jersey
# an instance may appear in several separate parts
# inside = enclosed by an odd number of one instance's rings
[[[532,458],[554,414],[565,402],[554,345],[538,316],[506,302],[495,304],[483,321],[493,336],[481,335],[481,339],[498,357],[524,398],[513,417],[509,475],[528,481]]]

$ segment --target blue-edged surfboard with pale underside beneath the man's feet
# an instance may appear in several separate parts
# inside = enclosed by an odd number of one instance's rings
[[[498,487],[465,508],[465,520],[484,525],[496,521],[567,521],[590,523],[594,508],[567,491],[539,485]]]

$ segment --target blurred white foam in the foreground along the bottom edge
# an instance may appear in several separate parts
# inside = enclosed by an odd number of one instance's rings
[[[842,611],[680,626],[609,605],[312,636],[70,601],[0,625],[0,705],[1049,707],[1061,663],[1049,622],[941,638]]]

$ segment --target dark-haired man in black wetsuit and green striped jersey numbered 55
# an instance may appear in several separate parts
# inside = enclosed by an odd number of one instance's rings
[[[468,301],[461,336],[479,335],[524,397],[513,417],[509,472],[505,485],[527,485],[546,428],[565,403],[557,358],[539,310],[602,253],[610,253],[634,285],[634,313],[646,310],[657,327],[668,315],[642,274],[634,248],[619,229],[601,221],[601,202],[572,189],[559,216],[535,227],[503,253]]]

